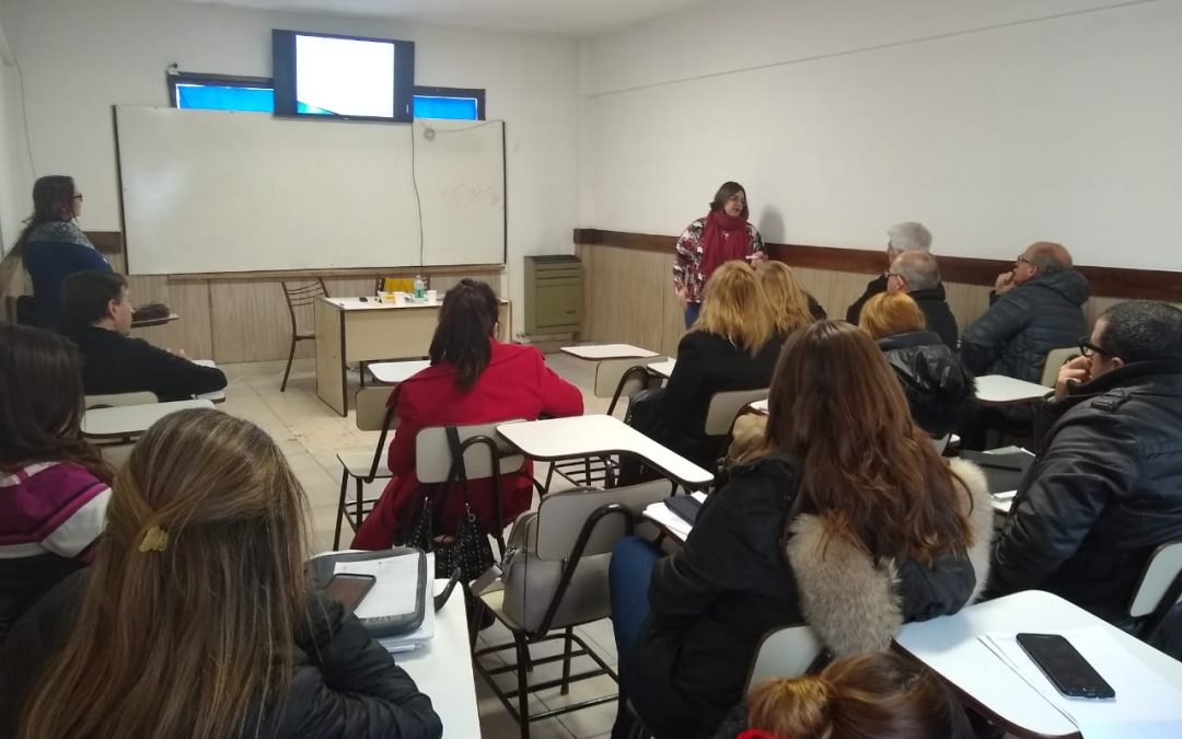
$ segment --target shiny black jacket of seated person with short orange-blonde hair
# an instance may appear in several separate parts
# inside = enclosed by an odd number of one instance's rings
[[[911,417],[933,436],[960,428],[976,406],[976,381],[940,335],[896,333],[878,341],[911,407]]]

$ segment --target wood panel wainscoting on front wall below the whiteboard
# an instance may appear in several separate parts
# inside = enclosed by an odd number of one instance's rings
[[[95,247],[124,272],[122,234],[86,232]],[[505,268],[501,265],[460,265],[426,267],[430,289],[441,293],[466,277],[496,287]],[[160,302],[168,305],[180,320],[160,326],[135,329],[132,336],[157,346],[183,349],[190,357],[210,358],[219,364],[286,359],[291,346],[291,319],[281,283],[309,283],[324,279],[331,296],[370,296],[377,277],[415,277],[417,267],[372,267],[361,270],[300,270],[288,272],[227,272],[209,274],[129,274],[131,302],[135,305]],[[22,270],[4,294],[31,294],[28,274]],[[298,313],[300,326],[312,330],[312,309]],[[300,342],[297,357],[314,356],[312,342]]]

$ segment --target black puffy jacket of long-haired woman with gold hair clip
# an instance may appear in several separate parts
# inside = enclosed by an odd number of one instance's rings
[[[15,735],[26,692],[64,643],[86,571],[63,581],[30,609],[0,649],[0,737]],[[264,719],[266,739],[437,739],[431,701],[352,614],[310,595],[297,638],[287,700]],[[253,713],[253,712],[252,712]],[[253,726],[243,735],[254,737]]]

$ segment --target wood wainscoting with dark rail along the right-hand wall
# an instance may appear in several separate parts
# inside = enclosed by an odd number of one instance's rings
[[[596,228],[576,228],[583,260],[584,325],[582,338],[625,342],[676,356],[684,333],[682,306],[673,292],[676,236]],[[884,249],[768,244],[772,259],[793,267],[797,277],[829,312],[845,310],[885,268]],[[998,274],[1013,259],[976,259],[935,253],[948,305],[961,330],[989,306]],[[1182,273],[1156,270],[1079,266],[1092,298],[1084,306],[1089,325],[1110,306],[1129,299],[1165,300],[1182,307]]]

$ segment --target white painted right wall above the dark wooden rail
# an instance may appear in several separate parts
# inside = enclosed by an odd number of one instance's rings
[[[1182,2],[716,0],[580,56],[583,226],[680,233],[748,188],[773,241],[1182,270]]]

